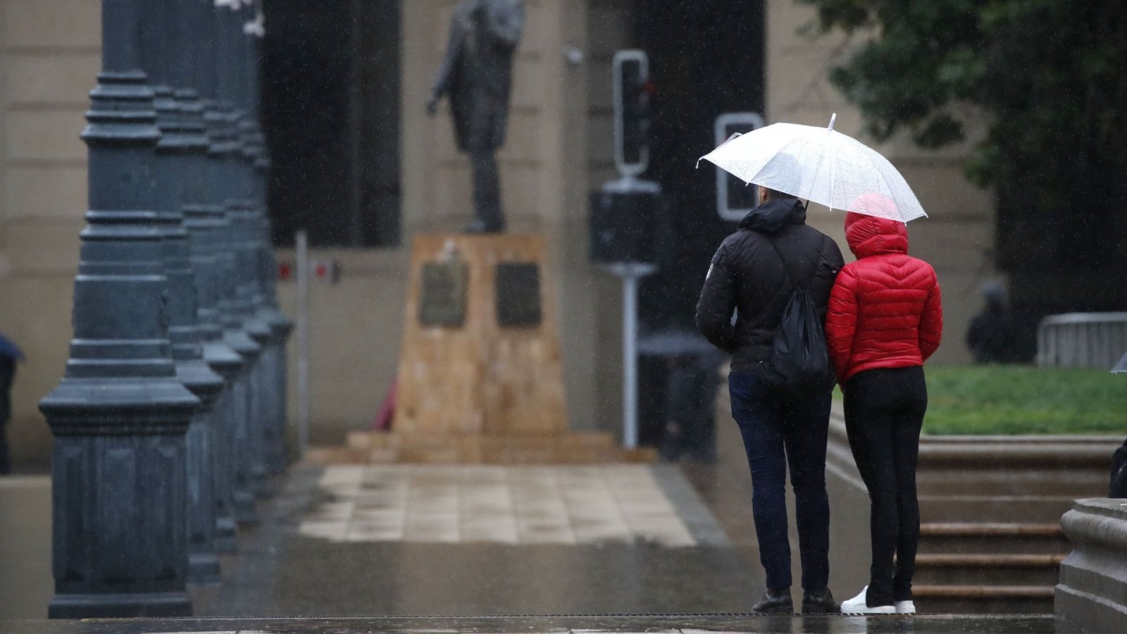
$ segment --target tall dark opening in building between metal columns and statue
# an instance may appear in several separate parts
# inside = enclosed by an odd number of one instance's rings
[[[263,126],[276,244],[399,244],[399,0],[272,0]]]

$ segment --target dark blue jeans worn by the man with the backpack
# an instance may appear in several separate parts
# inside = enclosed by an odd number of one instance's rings
[[[790,588],[787,537],[787,464],[795,490],[802,588],[829,580],[829,499],[826,496],[826,433],[829,393],[786,398],[754,370],[728,376],[731,415],[744,437],[752,468],[752,512],[767,588]]]

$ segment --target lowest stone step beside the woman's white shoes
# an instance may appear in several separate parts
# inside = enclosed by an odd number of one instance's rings
[[[1051,585],[930,585],[912,588],[922,614],[1051,614]]]

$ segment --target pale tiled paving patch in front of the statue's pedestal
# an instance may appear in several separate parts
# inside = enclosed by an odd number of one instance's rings
[[[694,543],[644,465],[338,466],[320,488],[303,534],[334,540]]]

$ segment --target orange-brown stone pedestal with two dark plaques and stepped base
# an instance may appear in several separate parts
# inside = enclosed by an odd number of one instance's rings
[[[648,459],[571,433],[556,280],[536,235],[415,238],[392,433],[349,434],[330,460],[604,463]]]

